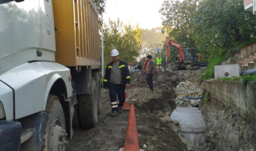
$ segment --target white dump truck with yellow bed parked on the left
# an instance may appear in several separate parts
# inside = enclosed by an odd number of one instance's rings
[[[101,111],[92,0],[0,0],[0,151],[66,151]]]

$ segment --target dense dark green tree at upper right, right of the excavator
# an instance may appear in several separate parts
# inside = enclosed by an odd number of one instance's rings
[[[203,0],[193,22],[194,40],[204,57],[222,55],[256,32],[256,16],[244,10],[243,0]]]

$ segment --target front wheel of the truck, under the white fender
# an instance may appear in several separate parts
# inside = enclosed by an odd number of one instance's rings
[[[41,151],[66,151],[66,126],[62,106],[57,96],[49,95],[46,105],[46,124]]]

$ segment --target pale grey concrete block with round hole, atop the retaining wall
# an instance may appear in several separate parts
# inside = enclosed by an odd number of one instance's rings
[[[242,72],[242,67],[239,64],[235,65],[215,65],[214,66],[214,77],[217,78],[225,78],[228,76],[236,76],[239,77]]]

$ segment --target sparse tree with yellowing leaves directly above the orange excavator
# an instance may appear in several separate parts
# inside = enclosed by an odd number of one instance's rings
[[[192,18],[199,0],[165,0],[159,11],[162,15],[163,32],[181,43],[184,48],[195,47],[192,37]]]

